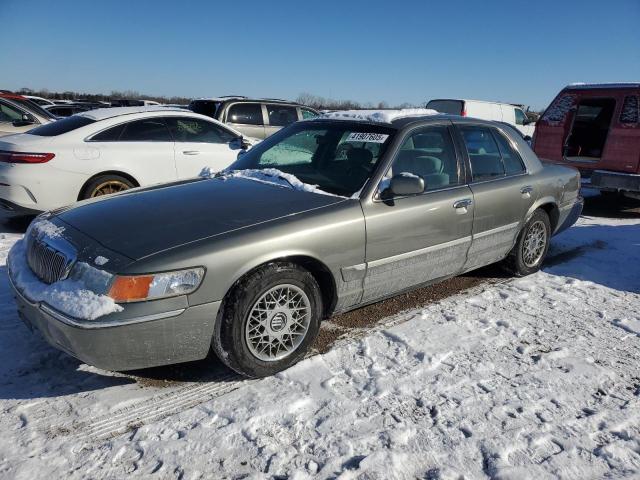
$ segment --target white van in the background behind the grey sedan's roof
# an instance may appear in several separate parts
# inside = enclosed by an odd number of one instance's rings
[[[531,140],[535,129],[535,124],[529,120],[522,108],[510,103],[441,98],[431,100],[427,103],[427,108],[440,113],[509,123],[516,127],[527,140]]]

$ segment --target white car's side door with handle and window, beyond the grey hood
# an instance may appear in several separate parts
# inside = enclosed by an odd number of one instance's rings
[[[168,117],[166,122],[175,141],[178,178],[195,177],[207,167],[217,172],[236,160],[240,143],[232,131],[201,118]]]

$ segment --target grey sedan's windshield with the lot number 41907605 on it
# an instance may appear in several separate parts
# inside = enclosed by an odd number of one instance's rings
[[[350,197],[371,176],[395,132],[350,121],[299,122],[253,147],[229,170],[276,169]]]

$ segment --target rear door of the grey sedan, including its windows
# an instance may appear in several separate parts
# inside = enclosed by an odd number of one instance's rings
[[[486,125],[457,124],[473,192],[473,241],[465,270],[502,260],[536,199],[533,182],[511,140]]]

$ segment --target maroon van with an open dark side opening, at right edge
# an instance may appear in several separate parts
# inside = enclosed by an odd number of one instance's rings
[[[640,199],[640,83],[565,87],[540,117],[533,149],[594,188]]]

